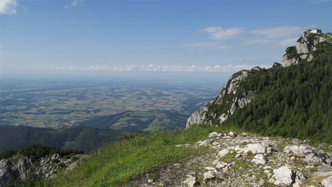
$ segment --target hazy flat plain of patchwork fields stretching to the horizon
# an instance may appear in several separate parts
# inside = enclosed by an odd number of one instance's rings
[[[0,126],[153,131],[185,126],[223,81],[6,79],[0,86]]]

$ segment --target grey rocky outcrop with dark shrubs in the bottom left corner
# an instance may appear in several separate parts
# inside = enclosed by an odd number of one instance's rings
[[[30,157],[14,155],[8,159],[0,160],[0,187],[10,186],[12,182],[26,179],[44,178],[51,179],[64,170],[75,167],[77,161],[86,155],[59,154],[42,157],[33,161]]]

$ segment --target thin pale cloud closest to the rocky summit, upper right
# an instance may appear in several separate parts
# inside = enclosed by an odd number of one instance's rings
[[[264,28],[259,30],[252,30],[252,34],[262,35],[267,38],[284,38],[293,35],[300,35],[304,31],[303,28],[293,26],[281,26],[277,28]]]

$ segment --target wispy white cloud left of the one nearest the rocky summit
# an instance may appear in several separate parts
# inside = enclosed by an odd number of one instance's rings
[[[207,32],[212,39],[231,39],[243,32],[243,28],[221,28],[209,27],[199,30],[200,32]]]

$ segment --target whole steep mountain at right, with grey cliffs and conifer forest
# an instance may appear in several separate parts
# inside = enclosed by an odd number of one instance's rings
[[[282,66],[235,73],[216,99],[193,113],[187,128],[222,124],[331,143],[332,34],[304,32],[297,46],[287,48]]]

